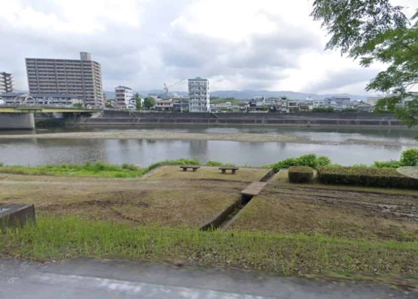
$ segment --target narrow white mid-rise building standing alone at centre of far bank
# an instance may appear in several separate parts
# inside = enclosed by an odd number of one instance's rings
[[[210,112],[208,79],[189,79],[189,112]]]

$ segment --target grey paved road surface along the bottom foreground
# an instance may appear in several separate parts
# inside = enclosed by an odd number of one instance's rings
[[[279,277],[223,267],[76,259],[0,260],[0,298],[393,299],[418,293],[384,285]]]

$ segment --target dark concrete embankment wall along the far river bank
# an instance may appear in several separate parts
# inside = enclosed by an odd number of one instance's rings
[[[103,111],[101,117],[75,118],[74,125],[269,125],[269,126],[397,126],[392,114],[373,113],[173,113]]]

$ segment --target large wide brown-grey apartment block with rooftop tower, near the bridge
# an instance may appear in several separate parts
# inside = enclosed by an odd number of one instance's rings
[[[90,53],[80,52],[80,60],[26,58],[31,94],[71,94],[85,105],[102,107],[102,71]]]

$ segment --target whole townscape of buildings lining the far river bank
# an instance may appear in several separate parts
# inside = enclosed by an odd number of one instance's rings
[[[103,91],[100,63],[91,60],[90,53],[80,52],[79,60],[26,58],[25,61],[29,92],[16,92],[13,75],[0,72],[0,105],[164,112],[373,112],[376,102],[384,98],[352,99],[346,95],[293,98],[284,94],[272,95],[269,91],[251,96],[251,91],[246,91],[248,98],[236,98],[233,91],[223,92],[229,95],[226,97],[214,96],[220,94],[219,91],[210,96],[209,80],[201,77],[188,79],[187,94],[169,92],[169,88],[185,79],[170,85],[164,83],[163,90],[149,92],[146,96],[125,85],[116,86],[111,93]],[[108,98],[107,94],[113,97]],[[406,105],[411,100],[406,98],[399,105]]]

